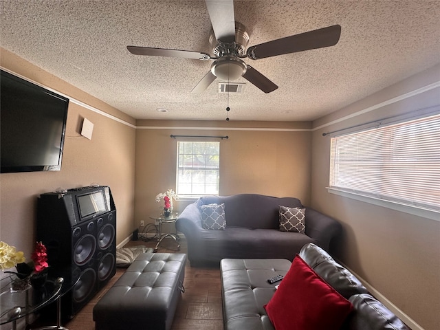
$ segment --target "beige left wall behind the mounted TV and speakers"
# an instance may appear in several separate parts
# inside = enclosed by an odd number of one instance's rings
[[[128,115],[3,49],[1,67],[135,124]],[[83,118],[94,123],[92,140],[80,137]],[[36,239],[37,197],[58,187],[76,188],[94,182],[111,188],[117,208],[118,243],[129,236],[134,228],[133,127],[69,102],[61,171],[0,175],[0,240],[23,250],[29,260]]]

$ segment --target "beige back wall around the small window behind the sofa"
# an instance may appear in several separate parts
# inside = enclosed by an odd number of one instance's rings
[[[135,221],[152,222],[148,216],[157,214],[162,206],[155,202],[155,195],[176,188],[177,140],[171,134],[228,135],[228,139],[214,139],[220,142],[219,195],[253,192],[294,196],[307,205],[311,170],[309,125],[308,122],[138,121]],[[201,126],[205,129],[192,129]],[[181,211],[188,203],[178,201],[174,207]]]

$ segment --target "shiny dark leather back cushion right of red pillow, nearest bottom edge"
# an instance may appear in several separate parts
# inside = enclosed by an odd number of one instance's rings
[[[370,294],[356,294],[349,300],[354,310],[342,329],[409,330],[404,322]]]

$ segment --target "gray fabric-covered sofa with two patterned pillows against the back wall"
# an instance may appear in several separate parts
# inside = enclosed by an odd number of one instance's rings
[[[225,230],[204,229],[201,208],[224,203]],[[279,206],[305,208],[305,232],[280,230]],[[342,226],[338,221],[303,206],[293,197],[257,194],[204,196],[188,205],[179,215],[176,228],[188,243],[190,265],[217,263],[223,258],[269,259],[292,261],[307,243],[329,250]]]

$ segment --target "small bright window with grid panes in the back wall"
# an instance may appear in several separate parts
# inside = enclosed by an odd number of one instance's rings
[[[220,142],[177,142],[177,194],[219,195]]]

